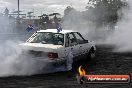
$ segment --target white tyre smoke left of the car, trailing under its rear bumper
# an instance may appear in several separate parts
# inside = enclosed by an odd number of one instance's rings
[[[20,43],[23,43],[21,39],[26,34],[20,36],[21,33],[16,31],[18,29],[13,30],[14,26],[12,24],[10,24],[8,17],[0,16],[0,77],[33,75],[65,70],[52,67],[50,69],[46,61],[28,55],[27,51],[19,46]],[[43,58],[46,59],[45,57]]]

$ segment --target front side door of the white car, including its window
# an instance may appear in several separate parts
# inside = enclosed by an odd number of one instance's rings
[[[88,41],[85,40],[82,35],[78,32],[74,33],[77,43],[79,45],[79,54],[80,55],[84,55],[87,54],[89,49],[90,49],[90,45],[88,44]]]

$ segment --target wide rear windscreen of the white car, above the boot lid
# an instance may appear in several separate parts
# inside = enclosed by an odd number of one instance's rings
[[[33,34],[27,42],[29,43],[42,43],[42,44],[64,44],[64,34],[51,33],[51,32],[37,32]]]

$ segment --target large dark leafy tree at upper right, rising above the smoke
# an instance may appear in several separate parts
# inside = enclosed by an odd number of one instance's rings
[[[124,6],[127,6],[127,2],[123,0],[89,0],[86,8],[93,14],[93,19],[90,20],[100,25],[116,23],[119,19],[118,11]]]

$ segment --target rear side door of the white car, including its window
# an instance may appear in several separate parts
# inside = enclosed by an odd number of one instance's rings
[[[72,52],[73,57],[75,58],[79,55],[79,45],[73,33],[68,33],[66,35],[66,45],[65,46],[66,46],[66,53]]]

